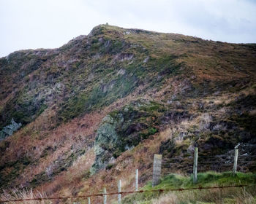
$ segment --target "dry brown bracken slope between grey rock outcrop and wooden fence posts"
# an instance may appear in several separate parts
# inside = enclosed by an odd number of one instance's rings
[[[121,154],[116,159],[116,165],[113,168],[110,170],[101,170],[97,175],[91,176],[88,180],[83,181],[83,188],[80,190],[79,195],[99,193],[102,192],[103,187],[107,188],[107,192],[117,192],[119,179],[122,181],[122,190],[134,190],[136,168],[139,169],[140,175],[139,187],[142,187],[148,179],[151,179],[152,158],[154,157],[152,152],[158,151],[162,138],[170,136],[169,133],[170,129],[167,129],[161,135],[157,133],[152,138],[135,146],[134,149]],[[108,200],[116,201],[116,195],[109,196]],[[101,198],[95,197],[93,202],[101,202]]]

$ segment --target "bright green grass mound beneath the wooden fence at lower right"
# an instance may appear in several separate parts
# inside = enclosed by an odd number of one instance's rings
[[[179,174],[172,173],[168,176],[161,178],[160,183],[156,187],[152,187],[152,183],[148,182],[144,186],[143,190],[152,189],[178,189],[178,188],[192,188],[192,187],[223,187],[223,186],[236,186],[241,184],[256,184],[256,174],[255,173],[237,173],[233,176],[232,172],[216,173],[216,172],[206,172],[197,174],[197,184],[193,184],[192,176],[181,176]],[[254,187],[255,189],[255,187]],[[130,195],[124,198],[123,203],[154,203],[159,198],[167,197],[172,194],[176,197],[177,203],[198,203],[200,202],[211,202],[216,201],[219,197],[219,190],[205,189],[205,190],[189,190],[184,192],[144,192],[135,195]],[[241,192],[241,188],[238,189],[223,189],[222,198],[226,200],[233,200],[232,195]],[[203,194],[202,194],[203,192]],[[252,193],[252,189],[248,189],[246,192],[248,195]],[[211,196],[213,195],[212,200]],[[255,196],[255,195],[254,195]],[[187,198],[186,198],[187,197]],[[215,199],[215,200],[214,200]],[[187,200],[186,202],[182,200]],[[231,202],[230,201],[230,202]],[[234,200],[233,200],[234,201]]]

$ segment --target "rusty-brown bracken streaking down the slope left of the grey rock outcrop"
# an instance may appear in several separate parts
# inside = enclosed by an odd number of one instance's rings
[[[138,93],[142,89],[143,87],[140,86],[134,93],[127,95],[125,98],[118,99],[105,109],[72,119],[72,121],[62,124],[53,130],[49,130],[50,122],[48,119],[54,117],[56,113],[51,109],[46,109],[34,122],[26,125],[26,127],[15,133],[14,136],[7,138],[7,141],[10,141],[10,147],[4,152],[1,162],[7,160],[15,161],[23,155],[38,160],[36,165],[28,165],[20,172],[13,184],[26,186],[39,173],[47,173],[49,171],[50,175],[51,167],[53,167],[54,162],[59,157],[70,152],[72,146],[84,148],[89,142],[93,142],[95,131],[102,118],[110,111],[113,111],[113,109],[118,109],[137,98]],[[88,143],[81,144],[80,139],[87,140],[87,138],[89,139]],[[48,146],[56,150],[46,155],[46,157],[42,157],[42,153]],[[86,158],[89,158],[89,160],[86,160]],[[57,192],[61,193],[61,195],[71,195],[72,191],[74,189],[76,191],[81,185],[86,170],[91,168],[93,162],[94,151],[91,149],[83,157],[78,157],[78,160],[67,171],[59,173],[50,182],[39,185],[37,189],[40,191],[45,189],[53,195]],[[6,168],[5,173],[8,174],[11,170]]]

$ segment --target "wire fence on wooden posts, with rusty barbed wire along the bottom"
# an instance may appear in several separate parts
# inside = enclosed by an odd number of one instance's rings
[[[197,174],[197,170],[204,172],[206,170],[222,171],[222,170],[234,170],[236,167],[247,168],[248,165],[256,165],[256,155],[243,154],[238,156],[238,150],[235,151],[235,155],[211,155],[211,156],[198,156],[198,151],[194,154],[194,157],[172,157],[163,158],[161,154],[154,154],[154,168],[153,168],[153,181],[152,184],[159,184],[160,176],[170,175],[170,173],[176,173],[177,170],[182,172],[187,171],[187,173],[192,173],[192,175]],[[196,157],[196,160],[195,160]],[[254,160],[255,159],[255,160]],[[196,164],[196,165],[195,165]],[[161,171],[162,169],[162,171]],[[195,171],[196,169],[196,171]],[[238,169],[239,170],[239,169]],[[236,171],[234,171],[236,173]],[[155,180],[155,181],[154,181]],[[10,199],[10,200],[0,200],[0,203],[10,203],[10,202],[26,202],[29,200],[67,200],[67,199],[79,199],[88,197],[105,197],[107,195],[128,195],[128,194],[138,194],[144,192],[183,192],[187,190],[202,190],[202,189],[227,189],[227,188],[241,188],[241,187],[255,187],[256,184],[244,184],[244,185],[233,185],[233,186],[219,186],[219,187],[192,187],[192,188],[177,188],[177,189],[151,189],[151,190],[138,190],[138,169],[136,170],[135,176],[135,191],[121,191],[121,180],[119,181],[120,187],[118,187],[118,192],[108,192],[99,193],[92,195],[80,195],[80,196],[69,196],[69,197],[31,197],[23,199]],[[104,199],[105,200],[105,199]],[[121,200],[121,199],[120,199]],[[119,203],[119,200],[118,200]],[[121,201],[120,201],[121,203]]]

